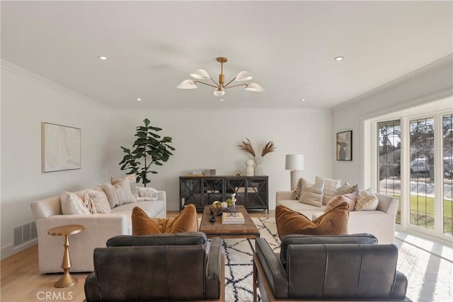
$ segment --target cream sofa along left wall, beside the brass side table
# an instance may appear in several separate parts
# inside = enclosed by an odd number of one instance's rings
[[[75,192],[82,197],[84,191]],[[159,191],[152,202],[133,202],[114,207],[110,214],[63,215],[59,196],[31,203],[38,231],[40,272],[62,272],[64,236],[50,236],[47,231],[55,226],[81,224],[85,230],[69,236],[71,272],[93,272],[93,250],[105,247],[105,242],[117,235],[131,235],[131,213],[140,207],[150,217],[166,218],[166,192]]]

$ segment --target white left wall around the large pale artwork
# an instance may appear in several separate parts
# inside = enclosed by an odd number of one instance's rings
[[[41,173],[41,122],[81,128],[80,170]],[[108,110],[8,62],[1,66],[1,258],[30,202],[108,180]]]

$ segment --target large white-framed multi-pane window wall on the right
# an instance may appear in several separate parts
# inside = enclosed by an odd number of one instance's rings
[[[400,199],[396,223],[403,230],[451,240],[453,112],[424,109],[394,113],[374,124],[371,183],[379,185],[379,193]]]

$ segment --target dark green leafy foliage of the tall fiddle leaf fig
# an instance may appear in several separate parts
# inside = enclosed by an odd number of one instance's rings
[[[151,126],[148,119],[144,119],[144,126],[136,128],[137,133],[134,134],[137,139],[132,145],[132,150],[121,146],[125,154],[120,161],[121,170],[127,170],[126,174],[135,174],[137,182],[142,182],[144,187],[151,182],[148,178],[148,173],[156,174],[157,171],[151,170],[151,165],[163,165],[170,156],[173,156],[171,151],[175,148],[171,146],[171,137],[162,137],[156,132],[162,130],[159,127]]]

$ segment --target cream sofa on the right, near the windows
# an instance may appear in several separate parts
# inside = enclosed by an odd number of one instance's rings
[[[376,211],[350,211],[348,220],[348,233],[371,233],[377,237],[379,243],[394,243],[395,220],[399,200],[387,195],[376,194],[379,204]],[[289,209],[298,211],[309,219],[322,214],[324,208],[310,204],[302,204],[299,200],[292,199],[291,191],[279,191],[275,197],[277,205],[281,204]]]

